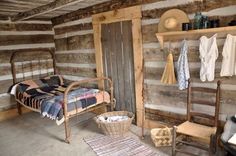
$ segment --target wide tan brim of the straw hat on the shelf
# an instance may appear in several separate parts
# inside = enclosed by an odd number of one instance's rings
[[[177,21],[176,27],[172,29],[167,29],[164,25],[164,22],[168,18],[175,18]],[[159,24],[158,24],[158,32],[167,32],[167,31],[181,31],[182,23],[189,23],[188,15],[179,9],[171,9],[162,14]]]

